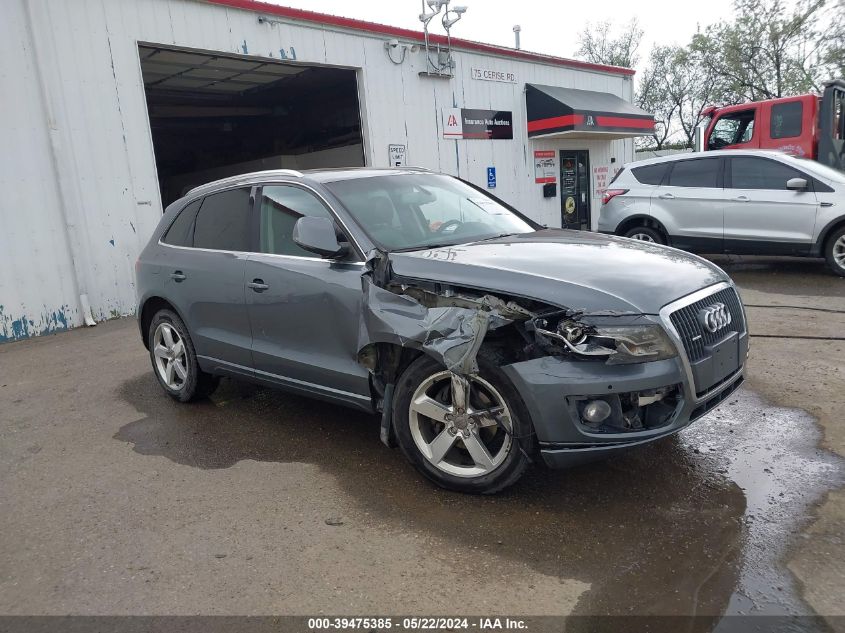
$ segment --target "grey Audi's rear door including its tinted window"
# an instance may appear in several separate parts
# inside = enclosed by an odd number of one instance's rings
[[[196,215],[183,218],[189,210]],[[185,319],[204,369],[249,375],[252,336],[244,271],[250,250],[250,189],[210,194],[182,214],[162,240],[169,247],[163,249],[165,297]],[[171,239],[171,232],[179,235]]]

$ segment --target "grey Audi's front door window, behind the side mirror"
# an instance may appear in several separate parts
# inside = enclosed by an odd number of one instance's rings
[[[261,192],[261,252],[319,259],[319,255],[300,248],[293,241],[293,225],[303,216],[332,217],[310,191],[286,185],[264,187]]]

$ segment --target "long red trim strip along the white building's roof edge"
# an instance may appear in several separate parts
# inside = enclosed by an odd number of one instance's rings
[[[218,4],[225,7],[232,7],[235,9],[244,9],[245,11],[254,11],[256,13],[263,13],[265,15],[279,16],[281,18],[287,18],[293,21],[312,22],[314,24],[334,26],[354,31],[365,31],[367,33],[389,35],[390,37],[395,37],[397,39],[402,38],[406,40],[413,40],[416,42],[425,41],[425,36],[421,31],[412,31],[411,29],[403,29],[397,26],[378,24],[376,22],[367,22],[365,20],[356,20],[354,18],[344,18],[338,15],[328,15],[326,13],[318,13],[316,11],[308,11],[306,9],[280,7],[275,4],[268,4],[267,2],[259,2],[258,0],[204,0],[204,2],[208,2],[209,4]],[[428,40],[431,44],[440,44],[441,46],[448,45],[448,40],[445,35],[431,34],[429,35]],[[591,64],[590,62],[582,62],[577,59],[566,59],[565,57],[554,57],[552,55],[542,55],[540,53],[529,53],[528,51],[518,51],[513,48],[505,48],[504,46],[494,46],[492,44],[483,44],[482,42],[462,40],[455,37],[452,38],[452,46],[454,48],[460,48],[468,51],[490,53],[492,55],[503,55],[506,57],[512,57],[514,59],[522,59],[525,61],[549,64],[552,66],[581,68],[583,70],[594,70],[599,72],[611,73],[614,75],[630,76],[636,72],[632,68],[622,68],[620,66],[607,66],[605,64]]]

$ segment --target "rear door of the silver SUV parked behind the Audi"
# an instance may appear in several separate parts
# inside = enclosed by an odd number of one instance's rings
[[[724,159],[693,158],[672,163],[651,197],[651,215],[666,218],[672,246],[719,253],[723,247]],[[671,226],[670,226],[671,225]]]

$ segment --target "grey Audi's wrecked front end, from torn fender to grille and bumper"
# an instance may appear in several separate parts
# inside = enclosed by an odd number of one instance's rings
[[[555,467],[679,431],[742,382],[748,334],[728,282],[659,314],[587,312],[401,278],[386,256],[368,268],[359,362],[371,371],[385,442],[393,382],[408,350],[462,376],[478,371],[478,355],[495,358],[526,405],[544,461]]]

